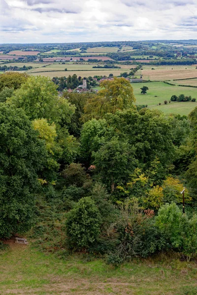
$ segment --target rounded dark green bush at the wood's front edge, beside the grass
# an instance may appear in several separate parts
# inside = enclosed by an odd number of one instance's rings
[[[98,238],[101,217],[90,197],[79,200],[67,213],[66,235],[71,248],[87,248]]]

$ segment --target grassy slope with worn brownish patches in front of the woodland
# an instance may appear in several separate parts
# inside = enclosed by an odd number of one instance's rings
[[[0,252],[0,266],[0,295],[183,295],[197,287],[195,265],[175,260],[114,268],[100,259],[87,262],[75,256],[62,261],[31,245],[13,243]]]

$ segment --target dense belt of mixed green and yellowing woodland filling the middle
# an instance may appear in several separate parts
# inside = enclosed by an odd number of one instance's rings
[[[63,95],[55,79],[0,75],[0,238],[116,266],[168,251],[196,258],[197,108],[137,108],[125,78]]]

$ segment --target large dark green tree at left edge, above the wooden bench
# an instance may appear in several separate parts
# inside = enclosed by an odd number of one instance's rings
[[[21,109],[0,105],[0,237],[34,222],[38,173],[47,160],[44,142]]]

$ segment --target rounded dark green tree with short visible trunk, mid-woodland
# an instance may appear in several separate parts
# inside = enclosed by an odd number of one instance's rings
[[[97,152],[93,152],[93,157],[96,172],[111,192],[117,185],[126,183],[137,164],[135,149],[116,138],[105,142]]]

